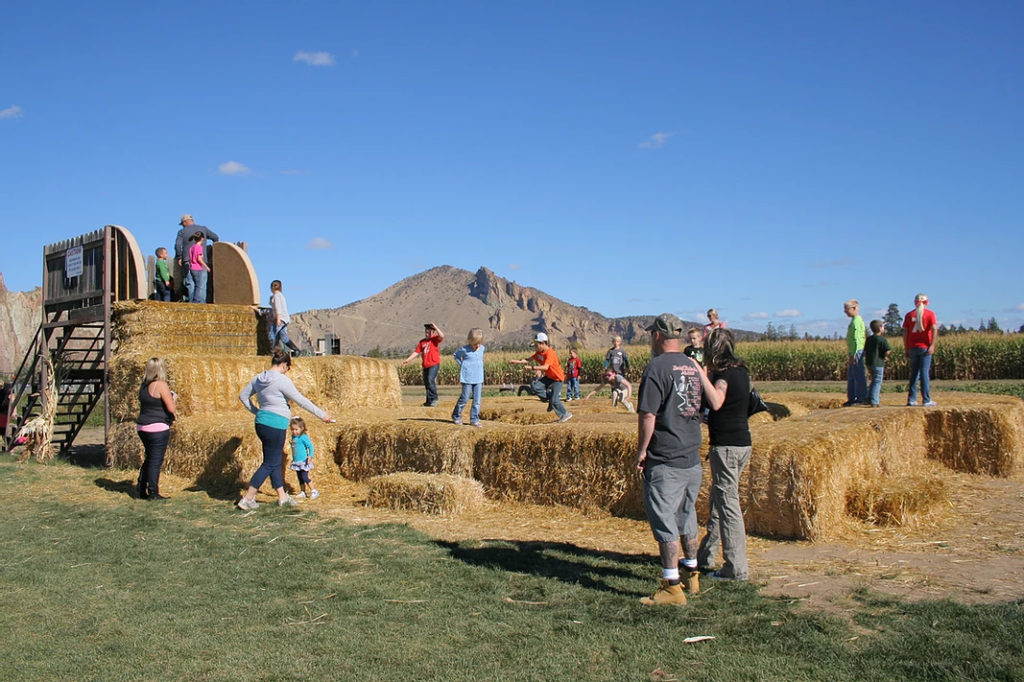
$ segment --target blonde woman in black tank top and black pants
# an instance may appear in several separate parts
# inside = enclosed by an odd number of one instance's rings
[[[138,389],[139,411],[135,424],[145,449],[145,460],[138,473],[138,497],[142,500],[166,500],[160,494],[160,468],[171,439],[171,422],[177,395],[167,385],[167,364],[151,357]]]

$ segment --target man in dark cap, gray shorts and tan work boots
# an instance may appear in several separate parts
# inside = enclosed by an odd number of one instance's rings
[[[686,603],[680,566],[690,594],[700,591],[696,501],[700,468],[700,398],[713,408],[722,396],[700,366],[680,349],[683,323],[666,312],[647,328],[651,359],[637,396],[637,469],[643,476],[647,521],[662,557],[662,582],[647,605]],[[680,563],[680,553],[683,555]]]

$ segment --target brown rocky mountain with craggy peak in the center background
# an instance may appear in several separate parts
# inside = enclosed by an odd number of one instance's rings
[[[480,327],[484,343],[494,349],[526,347],[538,332],[546,332],[558,348],[602,348],[613,334],[626,343],[639,341],[652,317],[605,317],[500,278],[486,267],[470,272],[440,265],[361,301],[293,314],[289,331],[297,342],[313,348],[333,334],[342,352],[353,354],[374,349],[408,352],[427,322],[444,331],[445,346],[461,343],[470,328]]]

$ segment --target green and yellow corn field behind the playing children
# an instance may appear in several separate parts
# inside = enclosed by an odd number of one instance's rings
[[[909,374],[903,340],[890,338],[892,352],[886,360],[886,379],[906,380]],[[640,380],[650,348],[646,345],[626,347],[630,371],[626,378]],[[568,349],[556,348],[562,366]],[[841,381],[846,379],[847,355],[845,341],[753,341],[736,346],[737,354],[746,363],[751,376],[758,381]],[[601,381],[605,350],[581,350],[583,370],[580,381],[596,384]],[[528,383],[530,372],[509,359],[526,357],[528,352],[487,352],[484,354],[484,380],[488,385]],[[401,367],[395,363],[401,383],[422,385],[419,360]],[[1024,379],[1024,335],[1021,334],[958,334],[943,336],[932,359],[932,378],[956,380]],[[451,355],[441,358],[437,383],[459,383],[459,367]]]

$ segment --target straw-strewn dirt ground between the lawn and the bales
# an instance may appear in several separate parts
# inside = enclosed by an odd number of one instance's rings
[[[84,430],[73,461],[101,465],[102,429]],[[111,470],[109,478],[126,484],[135,473]],[[949,474],[949,509],[916,527],[852,526],[841,539],[808,543],[748,541],[752,580],[766,594],[829,610],[842,610],[851,591],[872,590],[910,599],[950,598],[964,603],[995,603],[1024,598],[1024,471],[1012,478]],[[167,495],[187,492],[190,482],[165,475]],[[569,543],[596,551],[652,556],[647,524],[568,508],[493,503],[476,513],[441,518],[368,508],[358,483],[322,488],[317,512],[352,523],[398,522],[439,540],[510,540]],[[110,491],[96,488],[110,497]],[[269,496],[264,496],[269,500]],[[225,501],[225,504],[227,502]]]

